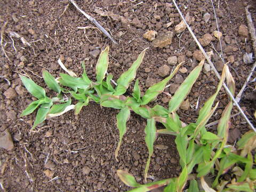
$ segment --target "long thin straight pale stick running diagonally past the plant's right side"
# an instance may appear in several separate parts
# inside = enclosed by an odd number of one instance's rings
[[[193,33],[193,31],[191,30],[191,28],[189,27],[187,21],[185,20],[185,18],[183,17],[178,5],[176,4],[175,0],[172,0],[173,4],[175,5],[176,9],[178,10],[182,20],[185,22],[189,33],[191,34],[191,36],[194,38],[195,42],[197,43],[199,49],[202,51],[202,53],[204,54],[204,57],[206,58],[206,60],[210,63],[214,73],[216,74],[216,76],[220,79],[220,74],[218,73],[217,69],[214,67],[212,61],[210,60],[210,58],[208,57],[208,55],[206,54],[206,52],[204,51],[202,45],[198,42],[195,34]],[[245,118],[246,122],[250,125],[250,127],[253,129],[254,132],[256,132],[256,129],[254,128],[254,126],[252,125],[252,123],[249,121],[249,119],[246,117],[246,115],[244,114],[244,111],[241,109],[241,107],[238,105],[238,103],[236,102],[236,99],[234,98],[234,95],[230,92],[230,90],[228,89],[227,85],[225,83],[223,83],[223,87],[225,88],[225,90],[227,91],[229,97],[233,100],[233,102],[235,103],[235,105],[237,106],[238,110],[241,112],[241,114],[243,115],[243,117]]]

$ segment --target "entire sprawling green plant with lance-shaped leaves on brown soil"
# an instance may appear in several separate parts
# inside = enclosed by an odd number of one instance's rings
[[[46,97],[45,90],[42,87],[35,84],[31,79],[20,76],[27,90],[38,99],[31,102],[21,114],[21,116],[31,114],[38,108],[32,129],[42,123],[47,117],[61,115],[70,109],[75,109],[75,114],[78,114],[82,107],[87,106],[90,101],[99,103],[103,107],[119,109],[120,111],[116,116],[117,128],[119,130],[119,143],[115,151],[115,158],[117,159],[122,139],[127,130],[126,122],[129,121],[131,111],[134,111],[134,113],[147,119],[145,142],[149,155],[144,174],[145,180],[147,179],[150,158],[153,155],[154,142],[157,134],[175,135],[175,143],[179,152],[182,171],[178,178],[170,178],[140,185],[131,174],[118,170],[117,174],[119,178],[126,185],[135,187],[131,191],[149,191],[161,186],[166,186],[164,191],[182,191],[187,187],[187,183],[189,183],[188,191],[199,191],[197,178],[200,178],[200,186],[205,191],[215,191],[214,189],[218,191],[254,190],[256,162],[253,160],[252,150],[256,147],[256,135],[254,132],[248,132],[243,135],[242,139],[237,143],[237,149],[227,145],[230,113],[233,107],[231,99],[219,120],[218,133],[214,134],[205,128],[206,123],[218,107],[218,102],[215,106],[213,104],[225,79],[231,92],[233,94],[235,93],[234,79],[227,66],[223,69],[221,81],[218,84],[216,92],[204,103],[204,106],[199,111],[196,123],[182,126],[183,124],[180,121],[177,110],[186,99],[191,87],[201,73],[204,60],[190,72],[185,81],[179,86],[179,89],[169,101],[168,109],[161,105],[150,108],[147,104],[155,100],[157,95],[163,92],[166,84],[179,70],[181,63],[173,70],[170,76],[150,86],[142,97],[139,80],[137,79],[133,87],[132,96],[125,97],[123,94],[126,92],[129,84],[134,80],[137,69],[146,53],[146,49],[140,53],[132,66],[117,79],[117,85],[115,87],[111,84],[113,75],[108,74],[106,76],[109,63],[108,51],[109,47],[106,47],[99,56],[96,65],[96,82],[91,81],[87,77],[83,62],[82,67],[84,70],[82,77],[76,77],[74,73],[61,73],[60,77],[55,79],[49,72],[46,70],[43,71],[43,78],[46,85],[58,93],[57,97],[54,98]],[[75,105],[71,105],[71,98],[63,98],[63,94],[65,93],[70,93],[77,100]],[[165,129],[157,130],[156,122],[162,123]],[[229,170],[233,171],[235,175],[231,183],[220,179],[221,175]],[[204,180],[204,177],[209,174],[215,175],[215,180],[211,186]]]

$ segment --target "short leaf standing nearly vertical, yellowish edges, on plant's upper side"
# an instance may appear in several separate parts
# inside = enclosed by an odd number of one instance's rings
[[[105,74],[107,73],[108,51],[109,51],[109,46],[107,46],[105,50],[100,53],[100,57],[96,65],[96,74],[97,74],[96,79],[97,79],[97,82],[99,83],[102,82],[102,80],[105,78]]]

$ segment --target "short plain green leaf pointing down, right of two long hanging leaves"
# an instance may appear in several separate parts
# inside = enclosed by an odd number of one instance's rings
[[[175,139],[175,143],[177,145],[177,150],[179,152],[180,159],[186,165],[187,163],[186,155],[187,155],[187,146],[188,146],[187,135],[178,134]]]

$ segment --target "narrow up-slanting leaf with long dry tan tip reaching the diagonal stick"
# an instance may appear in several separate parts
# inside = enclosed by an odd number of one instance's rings
[[[217,91],[204,103],[204,107],[202,107],[199,111],[199,116],[196,120],[196,124],[198,125],[199,123],[201,123],[201,121],[203,121],[203,119],[205,118],[205,116],[207,114],[209,114],[209,112],[211,111],[212,109],[212,105],[213,105],[213,102],[214,100],[216,99],[220,89],[221,89],[221,86],[225,80],[225,77],[226,77],[226,69],[227,69],[227,66],[225,65],[224,68],[223,68],[223,71],[222,71],[222,75],[221,75],[221,79],[220,79],[220,82],[217,86]]]

